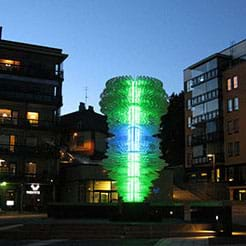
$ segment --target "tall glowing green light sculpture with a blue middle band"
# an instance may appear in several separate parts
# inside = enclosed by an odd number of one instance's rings
[[[114,135],[103,165],[124,202],[143,202],[164,167],[154,136],[167,109],[162,82],[142,76],[113,78],[106,83],[100,106]]]

